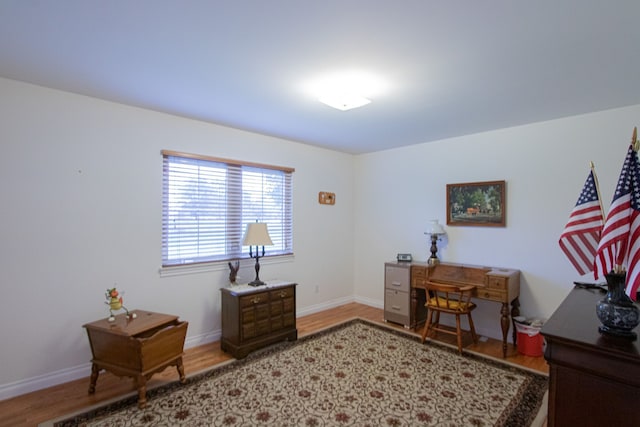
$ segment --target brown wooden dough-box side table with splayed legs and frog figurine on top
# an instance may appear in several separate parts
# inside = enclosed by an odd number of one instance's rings
[[[91,345],[91,381],[89,394],[96,389],[101,370],[118,376],[134,378],[138,388],[138,407],[147,405],[147,380],[167,366],[175,366],[184,384],[182,355],[188,322],[178,316],[134,310],[135,319],[126,314],[116,316],[114,322],[107,319],[87,323]]]

